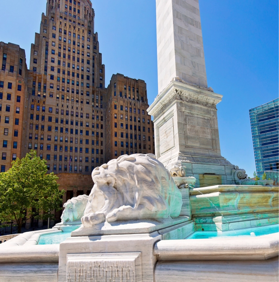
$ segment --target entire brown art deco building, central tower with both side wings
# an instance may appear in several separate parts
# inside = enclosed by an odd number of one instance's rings
[[[90,193],[95,167],[154,153],[146,84],[117,74],[105,88],[94,17],[89,0],[48,0],[29,70],[23,49],[0,42],[1,172],[36,150],[59,176],[63,203]]]

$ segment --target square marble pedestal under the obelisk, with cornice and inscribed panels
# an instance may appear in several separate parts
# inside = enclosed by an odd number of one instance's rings
[[[168,170],[185,166],[197,187],[234,184],[235,167],[220,151],[216,104],[221,100],[211,88],[174,78],[148,108],[158,160]]]

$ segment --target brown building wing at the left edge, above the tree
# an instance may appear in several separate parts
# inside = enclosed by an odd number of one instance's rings
[[[25,51],[16,44],[0,42],[0,167],[25,151],[27,114],[27,66]]]

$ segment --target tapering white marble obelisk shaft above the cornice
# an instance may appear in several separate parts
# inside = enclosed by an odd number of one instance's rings
[[[172,78],[207,87],[199,3],[156,0],[158,90]]]

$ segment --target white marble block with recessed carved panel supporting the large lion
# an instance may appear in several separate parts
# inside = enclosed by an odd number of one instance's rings
[[[157,229],[155,226],[153,229]],[[111,230],[110,235],[66,239],[60,243],[58,281],[153,282],[155,243],[185,239],[195,231],[195,223],[182,216],[174,219],[172,226],[162,222],[157,222],[157,226],[162,229],[138,234],[122,234],[119,229]],[[128,233],[129,228],[124,230]],[[147,231],[146,226],[143,231]]]

